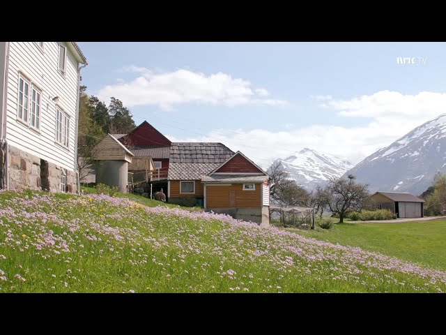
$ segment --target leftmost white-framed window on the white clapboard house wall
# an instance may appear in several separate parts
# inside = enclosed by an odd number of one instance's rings
[[[42,93],[29,80],[19,75],[17,119],[39,130],[41,105]]]

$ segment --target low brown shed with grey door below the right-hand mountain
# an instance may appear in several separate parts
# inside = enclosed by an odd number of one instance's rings
[[[422,218],[424,200],[410,193],[381,192],[371,196],[378,209],[390,209],[397,218]]]

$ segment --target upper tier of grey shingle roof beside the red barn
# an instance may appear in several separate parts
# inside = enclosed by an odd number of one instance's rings
[[[171,163],[222,164],[234,154],[224,144],[215,142],[176,142],[170,148]]]

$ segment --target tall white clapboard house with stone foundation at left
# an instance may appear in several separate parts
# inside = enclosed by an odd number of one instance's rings
[[[77,191],[75,42],[0,42],[0,188]]]

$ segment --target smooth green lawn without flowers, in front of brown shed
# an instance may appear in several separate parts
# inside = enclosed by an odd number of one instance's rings
[[[446,221],[337,223],[331,230],[287,230],[446,270]]]

